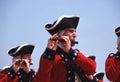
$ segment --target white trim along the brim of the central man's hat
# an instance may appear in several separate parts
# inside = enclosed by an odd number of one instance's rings
[[[79,15],[63,15],[61,16],[57,22],[54,24],[54,26],[52,26],[51,28],[46,28],[46,30],[51,30],[51,29],[54,29],[58,24],[59,22],[63,19],[63,18],[72,18],[72,17],[80,17]],[[47,23],[48,24],[48,23]],[[45,26],[47,25],[45,24]]]

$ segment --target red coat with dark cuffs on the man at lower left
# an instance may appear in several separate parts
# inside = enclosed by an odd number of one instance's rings
[[[22,70],[14,73],[11,68],[6,68],[0,72],[0,82],[30,82],[34,77],[33,71],[28,75],[24,74]]]

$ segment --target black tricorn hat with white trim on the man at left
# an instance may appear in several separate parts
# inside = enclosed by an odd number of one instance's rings
[[[32,54],[34,47],[35,46],[33,44],[23,44],[21,46],[17,46],[15,48],[10,49],[8,51],[8,54],[13,57],[23,54]]]

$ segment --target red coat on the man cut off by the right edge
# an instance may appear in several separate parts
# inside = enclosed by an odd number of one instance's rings
[[[106,59],[105,71],[110,81],[120,82],[120,59],[115,54],[110,54]]]

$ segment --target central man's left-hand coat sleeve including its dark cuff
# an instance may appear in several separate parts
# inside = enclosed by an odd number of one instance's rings
[[[51,70],[53,68],[54,51],[46,49],[39,62],[39,69],[32,82],[51,82]]]

